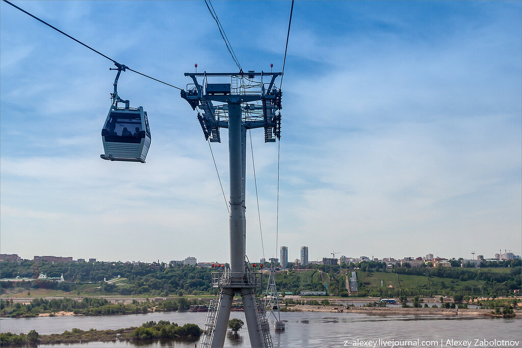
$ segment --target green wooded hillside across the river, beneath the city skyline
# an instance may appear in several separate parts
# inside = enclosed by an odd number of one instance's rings
[[[314,266],[307,270],[284,270],[276,275],[280,292],[300,294],[301,291],[325,291],[347,296],[346,277],[350,269],[358,276],[359,296],[398,297],[400,295],[434,296],[462,294],[469,296],[507,296],[521,287],[520,260],[501,263],[496,268],[404,268],[387,270],[382,262],[363,261],[353,268]],[[499,265],[495,265],[499,266]],[[215,294],[211,287],[211,269],[194,266],[165,268],[164,264],[139,265],[122,262],[64,262],[22,261],[2,262],[2,278],[34,277],[40,272],[49,277],[64,274],[65,282],[46,280],[1,282],[3,295],[58,296],[126,295],[171,296]],[[120,278],[117,278],[120,275]],[[103,279],[107,282],[103,282]],[[266,289],[267,276],[264,276]],[[382,286],[381,286],[382,281]]]

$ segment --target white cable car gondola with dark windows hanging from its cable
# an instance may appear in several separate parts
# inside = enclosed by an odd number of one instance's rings
[[[115,63],[118,73],[114,80],[114,93],[111,93],[112,105],[109,115],[101,130],[104,160],[145,163],[150,147],[150,128],[147,112],[143,106],[129,107],[129,101],[118,97],[117,83],[120,73],[126,66]],[[116,69],[111,69],[116,70]],[[125,107],[118,107],[125,103]]]

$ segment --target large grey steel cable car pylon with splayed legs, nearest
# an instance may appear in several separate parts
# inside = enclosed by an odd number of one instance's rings
[[[205,139],[221,142],[220,128],[228,128],[229,132],[230,268],[212,272],[212,286],[218,288],[218,296],[209,307],[201,346],[224,345],[232,300],[235,294],[240,294],[251,346],[271,347],[265,303],[257,296],[262,274],[254,270],[245,255],[246,130],[264,128],[265,142],[275,142],[276,138],[280,138],[281,90],[274,82],[281,73],[205,71],[184,75],[191,77],[194,83],[187,85],[187,91],[181,91],[181,97],[193,110],[201,111],[197,118]],[[198,78],[205,86],[198,82]],[[253,81],[256,78],[260,78],[260,81]],[[208,83],[208,79],[230,83]]]

